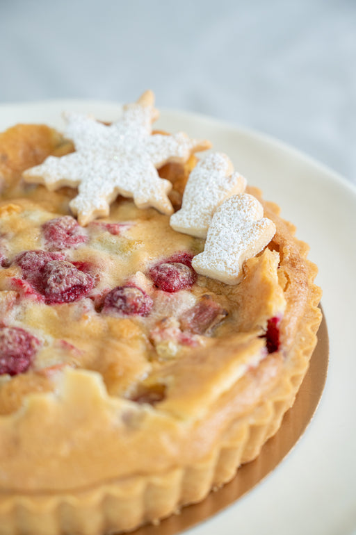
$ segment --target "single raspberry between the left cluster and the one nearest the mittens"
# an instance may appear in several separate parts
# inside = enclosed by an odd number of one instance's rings
[[[106,295],[103,311],[146,316],[150,313],[152,305],[151,297],[137,286],[117,286]]]

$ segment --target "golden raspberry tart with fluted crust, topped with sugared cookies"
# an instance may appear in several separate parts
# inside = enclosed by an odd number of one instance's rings
[[[152,131],[152,98],[113,124],[70,117],[64,136],[0,135],[1,535],[125,532],[203,500],[258,456],[307,372],[321,322],[307,245],[221,176],[227,200],[202,188],[205,230],[175,229],[209,144]],[[257,248],[249,234],[224,279],[197,258],[234,195],[273,231]]]

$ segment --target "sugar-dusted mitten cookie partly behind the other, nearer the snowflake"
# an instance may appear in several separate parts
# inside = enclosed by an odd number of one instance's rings
[[[175,231],[206,238],[216,208],[228,197],[242,193],[245,187],[246,180],[234,172],[225,154],[209,154],[191,172],[181,210],[170,217],[170,226]]]

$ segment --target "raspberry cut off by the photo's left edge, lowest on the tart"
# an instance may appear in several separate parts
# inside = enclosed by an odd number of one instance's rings
[[[19,327],[0,327],[0,375],[26,372],[40,341]]]

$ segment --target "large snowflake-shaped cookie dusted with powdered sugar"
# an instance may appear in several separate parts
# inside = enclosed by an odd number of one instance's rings
[[[49,190],[78,187],[79,195],[70,208],[82,225],[108,215],[109,205],[119,194],[133,197],[139,208],[153,206],[170,214],[172,185],[159,178],[156,168],[170,161],[184,162],[210,143],[191,140],[184,133],[151,135],[157,117],[151,91],[124,106],[122,117],[109,126],[91,117],[66,114],[65,135],[73,140],[76,152],[60,158],[49,156],[41,165],[26,170],[24,179],[43,183]]]

